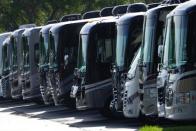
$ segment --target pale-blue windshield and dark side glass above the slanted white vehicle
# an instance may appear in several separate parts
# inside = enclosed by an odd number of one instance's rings
[[[130,26],[131,25],[131,26]],[[117,25],[116,64],[128,68],[142,42],[143,20],[136,19],[129,25]]]

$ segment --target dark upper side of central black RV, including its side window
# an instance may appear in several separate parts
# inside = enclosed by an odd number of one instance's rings
[[[86,82],[91,84],[110,78],[116,49],[115,22],[96,25],[88,42]]]

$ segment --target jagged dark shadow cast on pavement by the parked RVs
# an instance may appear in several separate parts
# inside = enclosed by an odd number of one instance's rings
[[[105,128],[134,128],[138,129],[144,125],[158,125],[160,127],[173,127],[180,125],[192,125],[195,121],[176,122],[166,119],[108,119],[96,111],[66,108],[65,106],[38,105],[29,101],[3,100],[0,101],[0,112],[10,112],[13,115],[20,115],[40,120],[52,120],[71,127],[105,127]],[[5,109],[4,109],[5,108]]]

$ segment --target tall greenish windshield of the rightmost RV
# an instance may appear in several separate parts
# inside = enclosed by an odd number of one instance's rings
[[[163,62],[169,68],[184,65],[188,59],[194,62],[196,61],[196,53],[194,51],[195,38],[192,38],[195,32],[192,28],[195,26],[190,26],[189,30],[193,32],[189,36],[187,35],[187,22],[188,18],[186,16],[174,16],[168,19]],[[193,25],[194,22],[196,21],[193,21]],[[187,54],[188,51],[190,51],[189,57]]]

